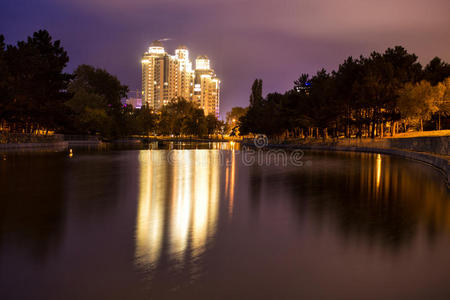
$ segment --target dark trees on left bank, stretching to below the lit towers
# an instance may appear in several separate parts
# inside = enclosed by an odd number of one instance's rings
[[[45,30],[26,41],[6,45],[0,35],[1,128],[19,133],[54,130],[99,134],[105,138],[129,135],[206,135],[222,124],[213,115],[184,99],[173,99],[162,112],[145,104],[123,105],[128,87],[108,71],[90,65],[64,72],[69,61],[59,41]]]

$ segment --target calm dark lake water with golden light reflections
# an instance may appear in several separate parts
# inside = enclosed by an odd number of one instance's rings
[[[450,299],[435,169],[193,147],[0,155],[0,299]]]

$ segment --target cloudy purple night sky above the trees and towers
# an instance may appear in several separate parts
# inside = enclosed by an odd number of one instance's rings
[[[335,69],[347,56],[402,45],[426,64],[450,61],[448,0],[1,0],[8,44],[47,29],[86,63],[140,89],[140,57],[155,39],[166,51],[206,54],[222,80],[221,116],[248,105],[255,78],[284,92],[301,73]]]

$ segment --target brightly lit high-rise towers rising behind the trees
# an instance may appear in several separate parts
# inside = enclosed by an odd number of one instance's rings
[[[170,55],[160,41],[154,41],[141,63],[142,104],[161,110],[173,98],[183,97],[198,104],[206,115],[219,116],[220,80],[208,57],[197,57],[193,69],[185,46]]]

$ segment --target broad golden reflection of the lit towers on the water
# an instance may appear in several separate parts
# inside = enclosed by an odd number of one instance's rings
[[[218,221],[218,151],[142,151],[136,222],[136,260],[155,266],[163,257],[182,267],[201,255]]]

